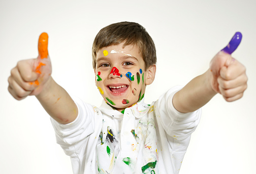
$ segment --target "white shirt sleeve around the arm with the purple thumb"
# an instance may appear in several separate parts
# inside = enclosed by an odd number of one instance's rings
[[[175,86],[156,102],[157,115],[165,132],[176,140],[187,139],[196,129],[201,117],[201,108],[189,113],[181,113],[173,106],[173,96],[182,86]]]

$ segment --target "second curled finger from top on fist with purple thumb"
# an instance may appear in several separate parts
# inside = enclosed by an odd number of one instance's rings
[[[219,76],[217,78],[217,82],[218,82],[220,88],[227,90],[227,89],[236,88],[241,85],[245,85],[247,83],[247,79],[248,78],[247,78],[246,74],[241,74],[233,80],[225,80]]]

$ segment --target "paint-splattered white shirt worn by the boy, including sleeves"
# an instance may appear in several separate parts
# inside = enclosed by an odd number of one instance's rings
[[[170,89],[151,105],[142,100],[124,110],[105,101],[100,108],[75,100],[78,116],[69,124],[52,120],[57,143],[71,157],[73,172],[179,173],[201,109],[178,112]]]

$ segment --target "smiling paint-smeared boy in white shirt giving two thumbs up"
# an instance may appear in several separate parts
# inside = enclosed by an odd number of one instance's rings
[[[37,97],[74,173],[178,173],[200,108],[216,93],[231,102],[247,88],[245,67],[230,55],[241,40],[236,33],[204,74],[145,104],[146,85],[155,77],[155,46],[141,25],[120,22],[100,30],[93,42],[95,84],[104,98],[97,108],[73,101],[52,79],[47,38],[39,38],[38,59],[12,69],[8,89],[17,100]]]

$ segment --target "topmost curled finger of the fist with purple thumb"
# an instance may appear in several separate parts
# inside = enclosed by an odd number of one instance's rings
[[[245,73],[246,70],[246,68],[234,58],[231,61],[232,62],[229,64],[228,67],[223,66],[219,71],[221,78],[225,80],[235,79],[239,75]]]

